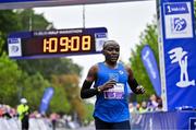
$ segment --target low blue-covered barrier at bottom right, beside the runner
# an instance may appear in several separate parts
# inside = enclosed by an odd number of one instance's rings
[[[132,114],[131,127],[133,130],[195,130],[196,113],[182,110]]]

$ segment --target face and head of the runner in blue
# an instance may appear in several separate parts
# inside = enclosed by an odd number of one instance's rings
[[[120,46],[115,43],[106,45],[103,49],[106,61],[109,63],[117,63],[120,55]]]

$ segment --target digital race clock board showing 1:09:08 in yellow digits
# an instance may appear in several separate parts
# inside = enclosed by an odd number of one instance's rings
[[[16,32],[8,37],[9,57],[34,59],[100,54],[106,27]]]

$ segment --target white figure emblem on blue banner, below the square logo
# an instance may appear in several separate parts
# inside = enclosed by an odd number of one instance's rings
[[[189,81],[187,72],[187,51],[183,51],[182,47],[176,47],[171,49],[169,52],[171,63],[177,62],[181,69],[180,81],[176,83],[179,87],[187,87],[189,85],[195,85],[195,80]]]

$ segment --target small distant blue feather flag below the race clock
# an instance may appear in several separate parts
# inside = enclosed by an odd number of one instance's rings
[[[53,87],[47,87],[45,90],[45,93],[44,93],[44,96],[42,96],[42,99],[41,99],[41,104],[40,104],[40,107],[39,107],[39,113],[40,114],[45,114],[47,111],[50,99],[53,96],[53,92],[54,92]]]

